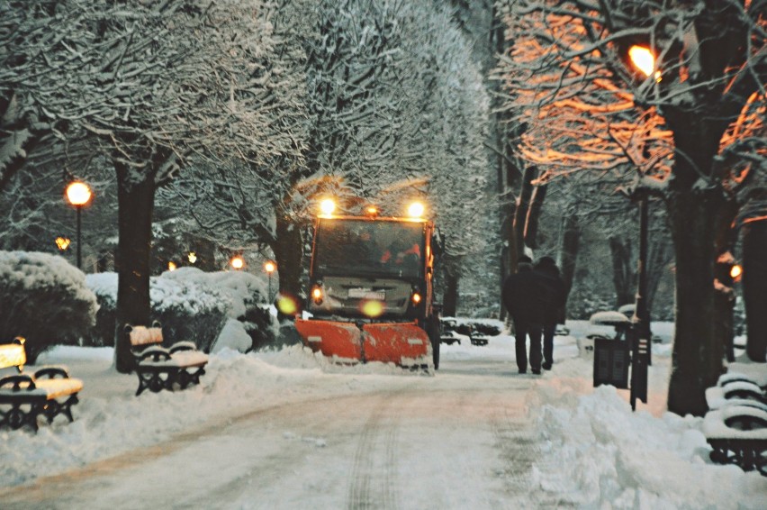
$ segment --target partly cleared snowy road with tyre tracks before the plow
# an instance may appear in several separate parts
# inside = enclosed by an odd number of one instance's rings
[[[0,490],[4,508],[536,508],[528,405],[510,362],[241,409],[157,446]],[[538,459],[538,461],[540,461]]]

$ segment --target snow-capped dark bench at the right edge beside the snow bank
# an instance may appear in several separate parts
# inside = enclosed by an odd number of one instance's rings
[[[703,433],[719,464],[736,464],[767,476],[767,396],[753,379],[725,374],[706,389],[710,409]]]

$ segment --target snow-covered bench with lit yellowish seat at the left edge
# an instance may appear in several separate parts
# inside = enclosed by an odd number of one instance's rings
[[[71,407],[78,402],[77,393],[83,389],[83,381],[70,378],[63,367],[43,367],[32,375],[25,374],[26,362],[22,337],[0,345],[0,369],[15,367],[19,372],[0,378],[0,427],[20,429],[29,425],[36,431],[40,414],[45,415],[48,423],[59,414],[72,422]]]

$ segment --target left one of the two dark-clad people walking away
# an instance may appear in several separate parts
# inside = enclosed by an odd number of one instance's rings
[[[545,277],[533,270],[528,256],[519,258],[517,272],[503,282],[503,305],[514,321],[517,368],[520,374],[528,371],[527,337],[530,337],[530,369],[541,373],[541,332],[545,319],[547,287]]]

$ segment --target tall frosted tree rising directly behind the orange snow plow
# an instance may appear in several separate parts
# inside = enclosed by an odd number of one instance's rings
[[[268,244],[281,290],[296,294],[300,233],[317,196],[345,198],[346,212],[374,201],[382,214],[402,214],[404,197],[429,195],[446,227],[451,214],[476,214],[486,99],[447,11],[428,0],[285,0],[270,21],[281,76],[293,76],[285,89],[293,99],[275,107],[293,118],[284,129],[305,148],[305,164],[188,172],[177,184],[201,224],[230,241]],[[472,235],[464,241],[474,222],[452,223],[456,252],[465,250],[459,242],[476,245]]]

